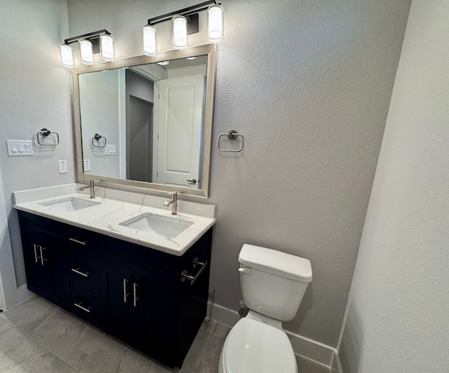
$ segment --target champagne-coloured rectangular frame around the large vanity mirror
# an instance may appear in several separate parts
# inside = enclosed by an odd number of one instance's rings
[[[204,102],[204,127],[203,127],[203,154],[201,168],[201,189],[190,189],[185,186],[170,186],[156,184],[152,182],[138,182],[135,180],[119,179],[116,177],[106,177],[100,175],[86,175],[83,173],[83,144],[81,141],[81,111],[79,107],[79,74],[87,72],[98,72],[101,70],[119,69],[135,65],[146,65],[165,60],[177,60],[180,58],[194,57],[197,55],[208,55],[207,76],[206,76],[206,95]],[[213,104],[215,94],[215,72],[217,64],[217,46],[210,44],[188,48],[186,50],[171,50],[169,52],[159,53],[152,57],[143,55],[139,57],[126,58],[114,62],[105,62],[90,66],[76,67],[72,71],[73,80],[73,108],[74,108],[74,135],[76,147],[76,170],[79,182],[95,182],[120,185],[121,189],[132,191],[135,188],[144,188],[153,191],[177,191],[187,196],[208,197],[210,184],[210,151],[212,149],[212,126],[213,126]]]

